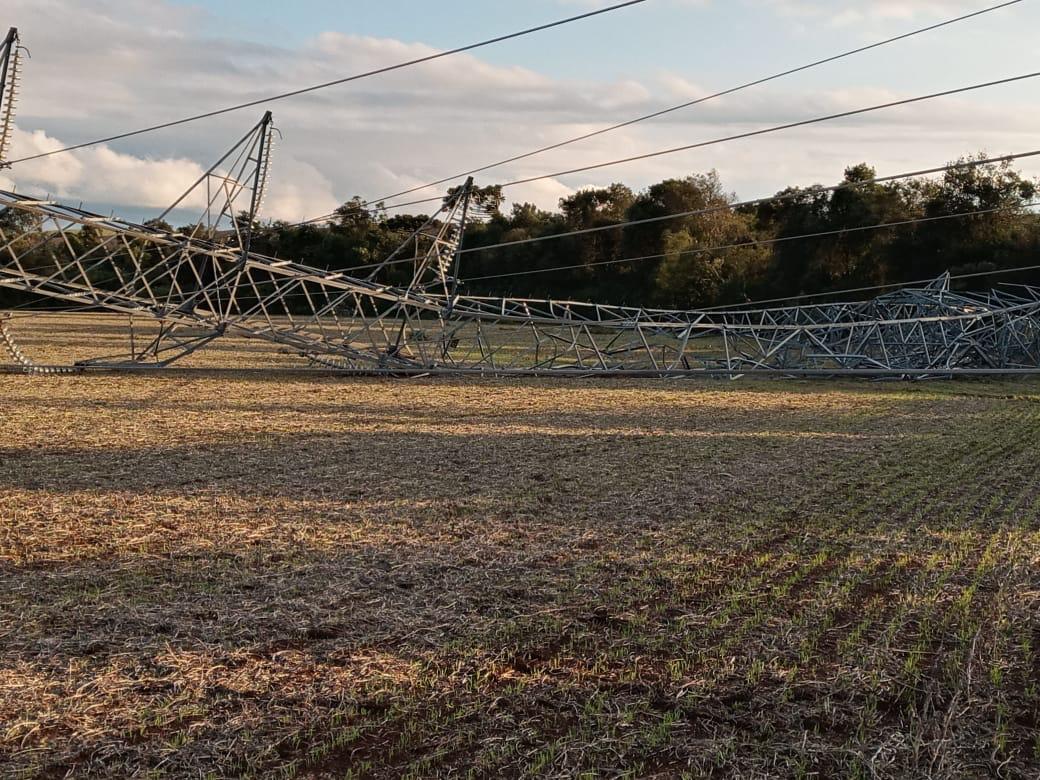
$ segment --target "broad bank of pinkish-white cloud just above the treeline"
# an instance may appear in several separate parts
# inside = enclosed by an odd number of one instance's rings
[[[853,11],[891,19],[948,16],[962,5],[769,2],[778,12],[814,24],[850,23]],[[205,11],[163,0],[5,0],[8,8],[6,18],[21,27],[33,53],[26,62],[14,158],[436,51],[339,32],[293,49],[216,41],[201,32],[215,28]],[[562,79],[461,55],[278,102],[270,108],[285,139],[276,153],[266,212],[286,219],[328,213],[355,194],[376,198],[409,189],[731,86],[701,81],[700,74],[675,72],[620,81]],[[937,82],[936,88],[956,85],[944,83],[941,73]],[[804,83],[777,82],[711,101],[478,178],[480,183],[525,178],[908,96],[880,85],[800,88]],[[158,212],[262,110],[20,164],[4,173],[0,184],[6,178],[6,186],[50,191],[75,203]],[[1038,120],[1029,87],[1002,87],[971,99],[943,99],[537,182],[511,194],[552,207],[579,184],[626,181],[638,187],[717,167],[728,188],[754,197],[788,183],[834,182],[846,164],[860,160],[898,173],[982,148],[1020,151],[1035,145],[1031,132]],[[441,194],[446,186],[417,197]]]

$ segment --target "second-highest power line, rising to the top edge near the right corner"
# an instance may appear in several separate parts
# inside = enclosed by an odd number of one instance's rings
[[[614,132],[616,130],[622,130],[622,129],[624,129],[626,127],[631,127],[632,125],[638,125],[641,122],[647,122],[649,120],[654,120],[654,119],[657,119],[659,116],[665,116],[666,114],[674,113],[675,111],[679,111],[679,110],[682,110],[684,108],[692,108],[693,106],[700,105],[701,103],[707,103],[708,101],[711,101],[711,100],[717,100],[719,98],[724,98],[724,97],[727,97],[729,95],[734,95],[734,94],[743,92],[745,89],[750,89],[751,87],[760,86],[761,84],[765,84],[765,83],[769,83],[771,81],[776,81],[778,79],[785,78],[787,76],[792,76],[792,75],[795,75],[797,73],[803,73],[805,71],[809,71],[809,70],[812,70],[814,68],[818,68],[821,66],[824,66],[824,64],[829,64],[830,62],[835,62],[835,61],[840,60],[840,59],[846,59],[848,57],[855,56],[856,54],[862,54],[863,52],[867,52],[867,51],[870,51],[873,49],[880,49],[881,47],[888,46],[889,44],[894,44],[894,43],[898,43],[900,41],[906,41],[907,38],[911,38],[911,37],[914,37],[916,35],[921,35],[921,34],[925,34],[927,32],[933,32],[935,30],[941,29],[943,27],[948,27],[948,26],[957,24],[959,22],[965,22],[967,20],[976,19],[976,18],[984,16],[986,14],[991,14],[991,12],[993,12],[995,10],[1000,10],[1002,8],[1007,8],[1007,7],[1011,6],[1011,5],[1017,5],[1020,2],[1022,2],[1022,0],[1011,0],[1011,2],[1005,2],[1005,3],[1000,3],[998,5],[993,5],[991,7],[984,8],[982,10],[977,10],[977,11],[974,11],[972,14],[965,14],[963,16],[956,17],[955,19],[946,20],[945,22],[940,22],[938,24],[933,24],[933,25],[930,25],[928,27],[921,27],[919,29],[912,30],[911,32],[903,33],[902,35],[896,35],[894,37],[885,38],[884,41],[879,41],[879,42],[877,42],[875,44],[870,44],[869,46],[861,46],[858,49],[852,49],[850,51],[842,52],[840,54],[835,54],[835,55],[830,56],[830,57],[825,57],[824,59],[817,59],[815,61],[809,62],[809,63],[804,64],[804,66],[800,66],[798,68],[791,68],[789,70],[782,71],[780,73],[776,73],[776,74],[774,74],[772,76],[765,76],[763,78],[758,78],[758,79],[755,79],[754,81],[749,81],[749,82],[747,82],[745,84],[740,84],[738,86],[729,87],[729,88],[724,89],[722,92],[714,93],[713,95],[708,95],[708,96],[703,97],[703,98],[698,98],[697,100],[692,100],[692,101],[688,101],[686,103],[680,103],[677,106],[671,106],[670,108],[664,108],[661,110],[654,111],[652,113],[644,114],[643,116],[636,116],[635,119],[627,120],[625,122],[620,122],[620,123],[618,123],[616,125],[610,125],[609,127],[605,127],[605,128],[602,128],[600,130],[595,130],[593,132],[586,133],[584,135],[578,135],[578,136],[575,136],[573,138],[568,138],[567,140],[562,140],[562,141],[558,141],[556,144],[551,144],[549,146],[542,147],[540,149],[536,149],[532,152],[526,152],[524,154],[519,154],[519,155],[516,155],[514,157],[508,157],[508,158],[505,158],[503,160],[498,160],[497,162],[492,162],[492,163],[489,163],[487,165],[482,165],[480,167],[473,168],[472,171],[465,171],[465,172],[463,172],[461,174],[456,174],[454,176],[446,176],[443,179],[438,179],[437,181],[430,182],[428,184],[423,184],[421,186],[412,187],[411,189],[405,189],[405,190],[401,190],[400,192],[394,192],[393,194],[384,196],[383,198],[372,199],[372,200],[368,201],[368,203],[381,203],[381,202],[384,202],[384,201],[389,201],[389,200],[391,200],[393,198],[400,198],[401,196],[412,194],[413,192],[419,192],[419,191],[421,191],[423,189],[427,189],[430,187],[436,187],[436,186],[438,186],[440,184],[445,184],[445,183],[450,182],[450,181],[456,181],[456,180],[462,179],[463,177],[466,177],[466,176],[473,176],[475,174],[482,174],[482,173],[484,173],[486,171],[491,171],[493,168],[500,167],[502,165],[508,165],[511,162],[518,162],[520,160],[526,160],[526,159],[529,159],[530,157],[535,157],[537,155],[544,154],[545,152],[551,152],[551,151],[556,150],[556,149],[563,149],[564,147],[571,146],[572,144],[577,144],[578,141],[588,140],[589,138],[595,138],[595,137],[600,136],[600,135],[605,135],[606,133],[612,133],[612,132]],[[425,203],[425,202],[426,201],[422,201],[422,203]],[[395,208],[397,206],[409,206],[409,205],[414,205],[414,204],[391,204],[390,208]]]

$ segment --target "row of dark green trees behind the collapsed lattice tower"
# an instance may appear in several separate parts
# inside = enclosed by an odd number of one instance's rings
[[[479,189],[476,200],[490,217],[469,227],[467,249],[562,237],[465,254],[463,290],[696,308],[1040,264],[1040,215],[1032,208],[1038,183],[1010,164],[957,167],[941,179],[876,183],[875,176],[869,165],[854,165],[846,172],[854,186],[788,188],[739,207],[716,172],[639,192],[624,184],[584,189],[556,211],[529,203],[503,211],[501,188]],[[701,213],[668,218],[685,212]],[[957,216],[968,212],[986,213]],[[0,229],[14,218],[0,213]],[[385,259],[427,218],[373,213],[355,199],[329,224],[275,224],[253,248],[320,268],[350,268]],[[74,240],[103,240],[95,233],[85,228]],[[46,256],[34,262],[46,266]],[[386,272],[385,281],[404,283],[411,268]],[[1000,282],[1040,285],[1040,274],[962,284]],[[0,291],[0,305],[12,294]]]

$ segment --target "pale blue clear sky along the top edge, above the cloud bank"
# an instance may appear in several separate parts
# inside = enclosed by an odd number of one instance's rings
[[[344,3],[340,0],[208,0],[182,5],[211,14],[226,30],[265,44],[298,46],[330,30],[375,37],[424,43],[441,49],[492,37],[503,32],[614,4],[562,0],[379,0]],[[804,60],[829,56],[911,27],[924,26],[961,12],[996,5],[976,2],[755,2],[754,0],[648,0],[631,8],[574,26],[540,33],[489,48],[480,57],[501,66],[522,64],[572,78],[624,78],[675,71],[697,79],[725,83],[734,76],[754,77],[764,70],[783,69]],[[813,6],[823,9],[815,15]],[[872,8],[873,6],[876,6]],[[905,6],[905,10],[898,6]],[[919,10],[915,10],[915,6]],[[840,10],[855,9],[862,19],[835,20]],[[802,8],[802,12],[799,12]],[[1037,47],[1024,34],[1040,30],[1040,4],[1020,5],[921,37],[903,48],[864,55],[849,66],[801,76],[804,83],[826,84],[840,73],[850,84],[895,82],[928,84],[927,61],[941,64],[944,76],[970,78],[981,67],[1031,69]],[[998,52],[991,43],[1013,35],[1018,45]],[[973,51],[974,50],[974,51]],[[977,56],[978,55],[978,56]],[[908,66],[910,66],[908,68]],[[935,71],[933,71],[935,73]]]

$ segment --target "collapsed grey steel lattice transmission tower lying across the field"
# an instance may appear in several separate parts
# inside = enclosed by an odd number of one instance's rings
[[[14,107],[18,37],[0,60]],[[951,375],[1040,369],[1040,289],[920,289],[860,303],[669,311],[463,294],[462,245],[479,218],[472,179],[386,260],[354,276],[253,250],[277,131],[270,113],[161,216],[201,209],[189,228],[137,225],[0,191],[0,286],[153,326],[79,367],[163,367],[234,337],[302,365],[366,372],[646,374],[718,372]],[[2,157],[0,157],[2,160]],[[349,209],[341,210],[350,217]],[[399,268],[407,265],[408,272]],[[30,360],[3,344],[22,365]],[[239,343],[239,342],[234,342]]]

